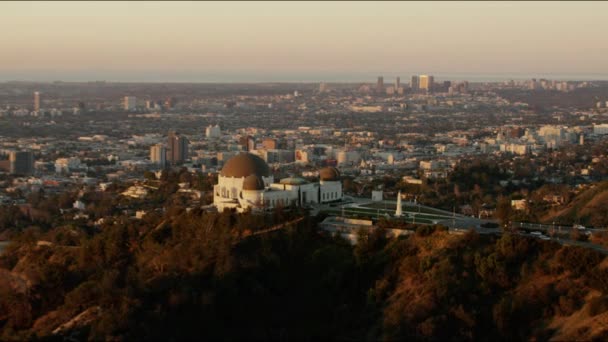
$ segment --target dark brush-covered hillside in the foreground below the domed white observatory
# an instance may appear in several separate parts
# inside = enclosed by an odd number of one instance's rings
[[[440,227],[353,247],[310,220],[239,240],[286,219],[193,210],[71,245],[27,230],[0,257],[0,339],[608,338],[593,251]]]

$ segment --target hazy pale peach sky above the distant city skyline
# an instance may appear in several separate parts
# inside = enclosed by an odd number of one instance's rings
[[[608,79],[606,13],[606,2],[0,2],[0,80]]]

